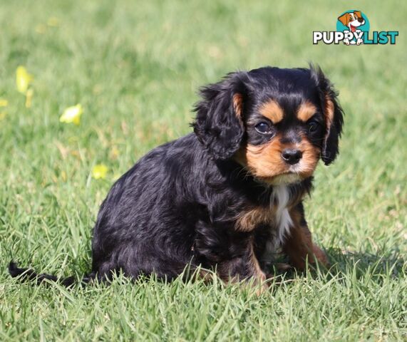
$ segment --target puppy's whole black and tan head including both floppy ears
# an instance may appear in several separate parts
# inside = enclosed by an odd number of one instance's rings
[[[215,160],[232,159],[257,180],[289,184],[338,154],[342,110],[319,68],[230,73],[201,90],[193,123]]]

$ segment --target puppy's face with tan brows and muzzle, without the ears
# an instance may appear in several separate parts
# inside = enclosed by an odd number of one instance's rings
[[[236,160],[263,182],[277,185],[310,177],[321,155],[324,115],[303,94],[259,100],[244,118],[246,142]]]

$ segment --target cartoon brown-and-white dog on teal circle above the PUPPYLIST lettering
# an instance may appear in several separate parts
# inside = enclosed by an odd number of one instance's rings
[[[344,38],[343,41],[346,45],[361,45],[364,43],[363,32],[369,31],[369,21],[361,11],[346,11],[339,16],[338,21],[340,24],[336,24],[336,31],[347,33],[349,37],[351,36],[349,33],[353,35],[353,38]],[[362,26],[366,26],[366,28],[362,29]]]

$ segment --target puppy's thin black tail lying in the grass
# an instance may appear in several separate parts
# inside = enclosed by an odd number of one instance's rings
[[[39,285],[41,284],[45,279],[48,279],[50,281],[55,281],[58,284],[61,284],[63,286],[72,286],[75,284],[75,278],[73,276],[68,276],[68,278],[57,278],[56,276],[53,276],[51,274],[36,274],[34,269],[21,269],[17,266],[16,262],[10,261],[9,264],[9,274],[13,277],[16,278],[18,277],[21,281],[36,281],[36,283]],[[85,276],[81,284],[85,285],[88,284],[91,279],[93,279],[94,276],[93,274],[90,274],[89,276]]]

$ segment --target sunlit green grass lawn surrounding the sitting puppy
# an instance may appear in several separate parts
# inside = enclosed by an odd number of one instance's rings
[[[395,46],[312,45],[344,1],[1,1],[0,340],[406,341],[405,1],[358,1]],[[190,132],[197,87],[229,71],[319,63],[346,113],[341,155],[306,200],[330,271],[285,274],[269,293],[199,281],[19,284],[10,259],[89,271],[91,229],[113,184]],[[31,107],[16,68],[34,76]],[[0,100],[1,103],[1,100]],[[81,103],[80,125],[60,123]],[[4,101],[3,101],[4,104]],[[105,179],[94,165],[108,167]]]

